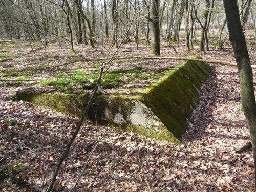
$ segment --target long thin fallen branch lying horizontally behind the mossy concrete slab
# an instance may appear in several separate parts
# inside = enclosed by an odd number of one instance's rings
[[[80,59],[75,60],[71,62],[66,62],[58,66],[54,67],[60,67],[64,65],[69,65],[71,63],[75,62],[92,62],[92,61],[101,61],[106,60],[108,58],[86,58],[86,59]],[[158,59],[158,60],[183,60],[183,61],[201,61],[201,62],[207,62],[212,64],[221,64],[221,65],[228,65],[228,66],[237,66],[236,62],[229,62],[229,61],[222,61],[222,60],[207,60],[207,59],[193,59],[193,58],[187,58],[187,57],[159,57],[159,56],[127,56],[127,57],[116,57],[114,60],[123,60],[123,59]],[[251,65],[251,68],[256,69],[256,65]]]

